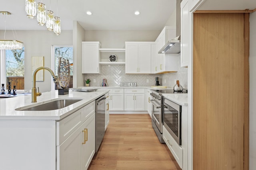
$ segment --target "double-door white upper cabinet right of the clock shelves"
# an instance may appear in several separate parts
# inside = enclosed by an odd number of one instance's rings
[[[154,42],[125,42],[125,73],[151,73],[151,45]]]

